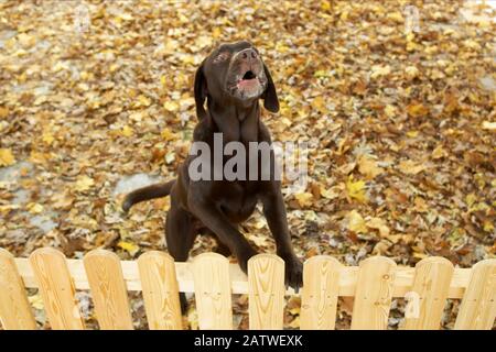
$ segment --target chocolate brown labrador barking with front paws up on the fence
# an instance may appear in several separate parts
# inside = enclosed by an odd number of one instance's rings
[[[194,95],[200,122],[194,130],[193,144],[204,142],[214,148],[214,133],[222,133],[224,145],[231,141],[246,146],[249,142],[271,143],[269,131],[260,120],[259,99],[263,99],[267,110],[277,112],[278,96],[267,66],[250,43],[223,44],[211,53],[196,72]],[[285,283],[298,289],[302,283],[302,264],[291,245],[281,184],[272,172],[269,179],[261,177],[265,167],[273,170],[273,151],[268,162],[271,165],[259,165],[260,177],[255,180],[252,177],[193,180],[188,170],[196,157],[186,158],[176,179],[127,195],[123,210],[128,211],[139,201],[171,195],[165,239],[175,261],[186,261],[198,233],[211,233],[216,237],[220,252],[233,253],[246,272],[248,260],[257,252],[237,224],[254,212],[260,200],[276,240],[277,254],[285,263]],[[209,162],[213,160],[214,155]],[[225,165],[229,158],[223,156],[223,160]],[[246,162],[249,164],[248,156]]]

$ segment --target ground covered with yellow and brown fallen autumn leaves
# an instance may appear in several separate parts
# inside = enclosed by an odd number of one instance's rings
[[[281,99],[278,114],[262,117],[273,140],[312,142],[309,187],[285,195],[302,258],[356,265],[382,254],[414,265],[442,255],[467,267],[495,256],[489,9],[452,0],[86,1],[90,24],[82,28],[80,3],[0,0],[1,248],[26,256],[51,245],[68,257],[106,248],[125,260],[163,249],[168,199],[125,218],[121,195],[174,177],[196,123],[197,64],[220,42],[249,40]],[[418,32],[406,32],[407,4],[419,9]],[[274,251],[259,210],[242,231]],[[201,238],[192,254],[213,244]],[[35,293],[31,301],[42,308]],[[139,296],[132,304],[142,328]],[[456,306],[448,305],[448,328]],[[246,307],[246,296],[235,299],[240,328]],[[293,298],[288,328],[298,315]],[[390,317],[401,327],[402,300]],[[36,318],[47,324],[43,310]],[[193,308],[185,322],[196,326]]]

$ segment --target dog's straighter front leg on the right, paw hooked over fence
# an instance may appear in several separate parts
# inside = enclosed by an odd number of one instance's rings
[[[291,235],[288,229],[288,219],[285,216],[284,199],[281,189],[277,183],[271,183],[269,191],[262,197],[263,215],[270,232],[276,240],[277,253],[284,260],[285,264],[285,284],[291,287],[300,288],[303,280],[303,265],[296,257],[291,245]]]

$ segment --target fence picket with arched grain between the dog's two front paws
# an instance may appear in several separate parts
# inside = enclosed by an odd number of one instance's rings
[[[284,262],[277,255],[258,254],[248,261],[249,327],[282,329]]]

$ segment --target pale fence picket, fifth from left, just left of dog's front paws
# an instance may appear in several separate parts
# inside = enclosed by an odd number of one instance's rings
[[[217,253],[200,254],[193,261],[193,277],[200,329],[233,329],[229,261]]]

